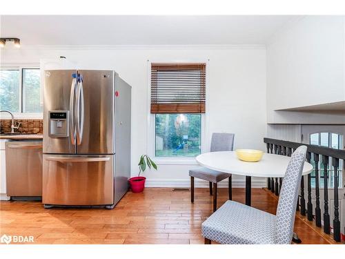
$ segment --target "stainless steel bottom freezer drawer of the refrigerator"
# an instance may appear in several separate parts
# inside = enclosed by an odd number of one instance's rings
[[[114,204],[114,155],[43,155],[43,204]]]

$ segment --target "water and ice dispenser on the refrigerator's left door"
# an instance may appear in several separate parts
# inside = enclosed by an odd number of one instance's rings
[[[49,137],[68,137],[70,111],[49,111]]]

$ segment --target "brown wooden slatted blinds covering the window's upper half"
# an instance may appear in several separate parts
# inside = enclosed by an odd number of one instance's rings
[[[206,64],[151,64],[151,113],[205,113]]]

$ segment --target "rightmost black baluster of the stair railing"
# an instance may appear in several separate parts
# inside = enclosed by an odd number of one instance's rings
[[[339,221],[339,197],[338,197],[338,185],[339,185],[339,158],[333,157],[332,160],[334,168],[334,219],[333,219],[333,239],[340,242],[340,221]]]

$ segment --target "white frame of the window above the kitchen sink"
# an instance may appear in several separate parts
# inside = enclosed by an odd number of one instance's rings
[[[39,64],[37,63],[28,63],[28,64],[1,64],[1,70],[19,70],[19,111],[22,111],[23,105],[23,69],[40,69]],[[42,86],[40,86],[42,87]],[[40,90],[40,93],[42,91]],[[41,96],[40,104],[41,103]],[[21,113],[16,112],[13,113],[14,119],[43,119],[43,112],[42,113]],[[11,116],[8,113],[0,113],[0,119],[11,119]]]

